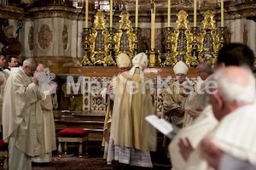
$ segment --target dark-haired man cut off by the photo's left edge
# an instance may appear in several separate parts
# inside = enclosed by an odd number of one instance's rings
[[[2,109],[3,109],[3,93],[4,93],[4,88],[6,81],[9,77],[9,73],[5,70],[3,70],[3,67],[5,65],[5,55],[0,52],[0,139],[3,139],[2,136]]]

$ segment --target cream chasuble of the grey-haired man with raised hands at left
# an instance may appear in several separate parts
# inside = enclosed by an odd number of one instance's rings
[[[27,156],[44,153],[41,150],[43,113],[39,99],[38,86],[21,68],[9,76],[3,95],[3,139],[8,142],[11,133],[18,129],[15,146]]]

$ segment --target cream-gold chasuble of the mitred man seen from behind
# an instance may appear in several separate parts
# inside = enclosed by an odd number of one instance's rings
[[[136,150],[156,150],[156,130],[145,117],[154,114],[148,78],[140,79],[140,70],[129,77],[125,71],[117,77],[113,104],[111,136],[114,145]]]

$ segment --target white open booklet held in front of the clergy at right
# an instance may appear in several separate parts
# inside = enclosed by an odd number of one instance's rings
[[[149,122],[153,127],[166,135],[169,139],[172,139],[178,132],[179,127],[173,125],[171,122],[167,122],[163,118],[159,118],[155,115],[146,116],[146,121]]]

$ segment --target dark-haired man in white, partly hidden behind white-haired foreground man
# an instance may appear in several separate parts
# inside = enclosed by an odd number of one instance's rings
[[[250,48],[241,43],[230,43],[220,49],[214,68],[218,70],[225,66],[238,65],[247,66],[253,70],[253,62],[254,55]],[[195,149],[217,125],[218,121],[212,113],[212,105],[208,105],[195,122],[188,127],[183,127],[169,144],[169,152],[173,154],[172,169],[211,169],[205,161],[202,161],[198,150]]]

